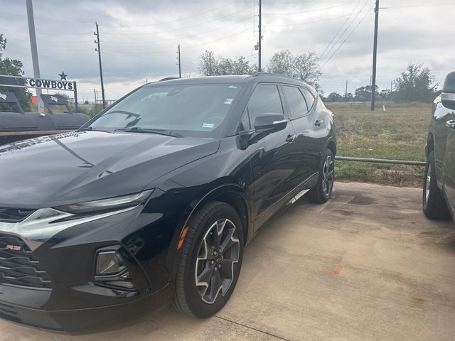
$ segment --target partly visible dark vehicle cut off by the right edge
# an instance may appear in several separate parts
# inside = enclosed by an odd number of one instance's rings
[[[455,219],[455,72],[433,102],[427,141],[423,210],[433,219]]]

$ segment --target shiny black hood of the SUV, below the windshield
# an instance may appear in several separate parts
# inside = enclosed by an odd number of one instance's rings
[[[220,141],[80,131],[0,146],[0,207],[39,208],[137,193],[216,153]]]

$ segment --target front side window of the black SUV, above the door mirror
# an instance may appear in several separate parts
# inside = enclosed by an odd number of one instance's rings
[[[248,101],[242,116],[240,131],[252,129],[255,119],[260,114],[283,114],[282,99],[277,85],[258,85]]]

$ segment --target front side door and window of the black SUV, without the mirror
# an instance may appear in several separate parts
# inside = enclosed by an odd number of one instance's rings
[[[284,114],[282,94],[277,85],[269,83],[255,87],[242,126],[253,130],[255,118],[266,113]],[[294,128],[289,122],[285,129],[265,136],[252,133],[247,149],[253,171],[256,226],[262,225],[295,188],[298,162],[292,154],[294,138]]]

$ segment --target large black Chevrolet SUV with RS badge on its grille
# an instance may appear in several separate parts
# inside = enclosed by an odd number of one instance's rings
[[[207,318],[245,244],[333,188],[333,116],[289,77],[144,85],[78,131],[0,147],[0,317],[119,325],[173,302]]]

